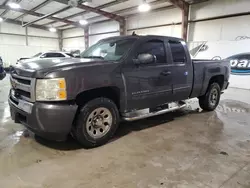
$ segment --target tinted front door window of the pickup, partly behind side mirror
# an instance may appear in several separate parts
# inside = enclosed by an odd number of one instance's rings
[[[166,63],[165,45],[161,40],[148,41],[140,46],[137,55],[149,53],[156,57],[156,63]]]

